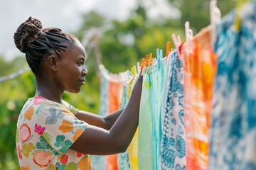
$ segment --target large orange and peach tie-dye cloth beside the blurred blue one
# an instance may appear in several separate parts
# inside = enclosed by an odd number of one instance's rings
[[[210,45],[210,28],[205,28],[190,43],[181,47],[184,62],[184,119],[186,169],[208,169],[210,111],[217,56]]]

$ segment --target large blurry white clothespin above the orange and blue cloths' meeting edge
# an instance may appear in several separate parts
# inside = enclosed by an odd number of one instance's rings
[[[212,29],[210,31],[210,41],[214,48],[214,43],[217,40],[216,24],[220,23],[221,13],[217,7],[217,0],[210,0],[210,25]]]

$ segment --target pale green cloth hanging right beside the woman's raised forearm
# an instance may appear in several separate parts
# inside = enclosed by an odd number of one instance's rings
[[[139,111],[138,169],[154,169],[151,147],[151,101],[149,75],[144,75]]]

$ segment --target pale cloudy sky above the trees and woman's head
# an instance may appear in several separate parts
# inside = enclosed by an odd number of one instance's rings
[[[43,28],[56,27],[72,33],[82,25],[82,14],[96,11],[107,18],[124,21],[137,6],[138,0],[0,0],[0,55],[6,61],[23,55],[15,47],[13,37],[29,16],[38,18]],[[177,10],[170,10],[166,0],[157,3],[144,0],[144,6],[150,18],[157,18],[163,11],[166,17],[180,16]]]

